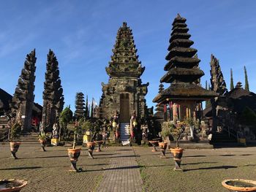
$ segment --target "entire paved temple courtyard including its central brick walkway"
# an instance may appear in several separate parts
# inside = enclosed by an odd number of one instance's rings
[[[159,158],[151,147],[108,147],[87,158],[82,147],[78,168],[69,172],[67,147],[20,145],[18,160],[0,144],[0,179],[28,180],[23,191],[225,191],[222,180],[256,180],[256,147],[185,150],[184,172],[173,171],[173,159]]]

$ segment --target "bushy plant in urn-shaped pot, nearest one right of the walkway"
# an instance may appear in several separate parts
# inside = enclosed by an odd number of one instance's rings
[[[173,137],[173,139],[176,141],[176,147],[171,148],[170,152],[173,153],[173,159],[175,161],[175,171],[182,171],[181,169],[181,157],[183,155],[183,150],[181,147],[179,147],[179,141],[181,139],[181,134],[185,131],[185,128],[187,126],[186,123],[177,121],[177,123],[170,123],[170,134]]]

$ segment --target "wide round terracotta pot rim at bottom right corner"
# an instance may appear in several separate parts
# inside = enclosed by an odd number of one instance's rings
[[[254,180],[224,180],[222,186],[229,191],[256,191]]]

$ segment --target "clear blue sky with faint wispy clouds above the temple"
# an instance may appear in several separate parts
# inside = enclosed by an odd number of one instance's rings
[[[220,61],[230,87],[230,68],[234,82],[244,85],[244,65],[250,91],[256,92],[256,1],[1,1],[0,2],[0,88],[15,91],[26,54],[36,48],[37,71],[35,101],[42,104],[48,50],[59,61],[65,105],[75,106],[75,93],[82,91],[97,102],[101,82],[108,82],[108,66],[116,33],[123,21],[132,28],[139,60],[149,82],[148,107],[154,106],[159,79],[165,74],[171,23],[180,13],[187,18],[189,33],[205,72],[203,87],[210,77],[210,57]],[[165,84],[165,88],[169,85]]]

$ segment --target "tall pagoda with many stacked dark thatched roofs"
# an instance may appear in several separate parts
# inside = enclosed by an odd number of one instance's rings
[[[168,61],[165,65],[167,73],[160,82],[170,83],[170,87],[159,93],[154,102],[170,104],[172,109],[170,119],[200,118],[201,102],[217,96],[217,93],[208,91],[200,86],[198,80],[204,75],[199,69],[200,59],[197,58],[197,50],[191,46],[194,44],[187,32],[186,19],[180,15],[173,21],[170,34],[169,53],[165,57]]]

